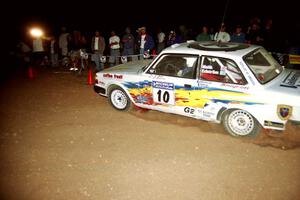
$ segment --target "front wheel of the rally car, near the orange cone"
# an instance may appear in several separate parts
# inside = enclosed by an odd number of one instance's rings
[[[131,100],[121,87],[113,86],[112,88],[110,88],[108,99],[109,103],[116,110],[127,111],[132,107]]]

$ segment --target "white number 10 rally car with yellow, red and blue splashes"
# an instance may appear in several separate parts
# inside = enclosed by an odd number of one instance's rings
[[[234,136],[300,121],[300,71],[280,66],[261,46],[189,41],[153,60],[96,74],[94,90],[117,110],[135,106],[222,122]]]

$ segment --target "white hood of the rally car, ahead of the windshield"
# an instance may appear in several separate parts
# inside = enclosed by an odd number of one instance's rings
[[[117,65],[114,67],[104,69],[101,71],[101,73],[136,74],[144,66],[148,65],[151,61],[152,61],[152,59],[132,61],[132,62],[128,62],[128,63],[124,63],[121,65]]]

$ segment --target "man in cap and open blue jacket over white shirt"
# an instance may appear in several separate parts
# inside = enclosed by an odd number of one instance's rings
[[[146,33],[146,27],[141,27],[138,29],[139,36],[137,39],[138,46],[140,48],[140,59],[144,59],[144,55],[150,55],[152,49],[154,48],[154,41],[151,35]]]

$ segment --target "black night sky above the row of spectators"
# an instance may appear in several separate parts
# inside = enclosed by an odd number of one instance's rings
[[[205,0],[164,2],[152,1],[12,1],[8,2],[7,13],[2,13],[5,37],[13,40],[24,37],[29,27],[39,25],[46,34],[58,34],[61,26],[77,28],[87,33],[99,29],[104,33],[116,30],[123,34],[126,26],[136,29],[146,26],[155,32],[158,26],[170,30],[180,24],[193,28],[196,32],[204,24],[219,26],[224,16],[225,24],[247,25],[254,16],[272,18],[279,34],[289,35],[298,31],[299,19],[296,1],[285,0],[281,3],[270,0]],[[105,35],[105,34],[104,34]],[[299,34],[298,34],[299,35]],[[287,36],[289,37],[289,36]]]

